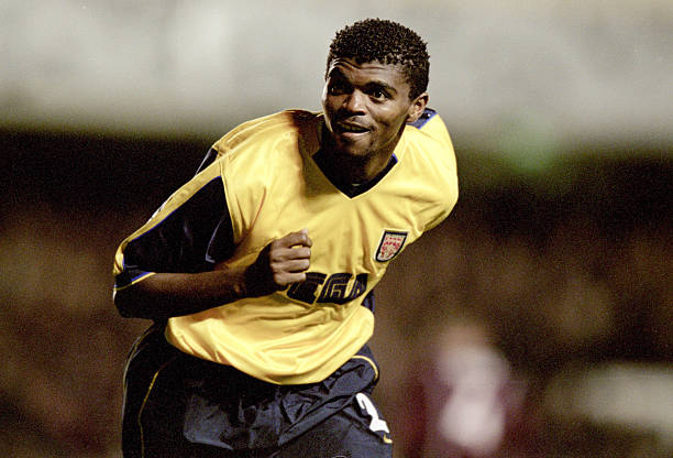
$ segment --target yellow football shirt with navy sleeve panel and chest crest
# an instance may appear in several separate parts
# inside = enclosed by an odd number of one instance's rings
[[[388,262],[455,205],[455,156],[442,120],[426,110],[379,176],[338,187],[321,168],[322,126],[321,113],[301,110],[241,124],[121,243],[117,290],[155,272],[249,265],[274,239],[308,229],[306,282],[168,319],[165,336],[177,349],[302,384],[326,379],[371,338],[371,293]]]

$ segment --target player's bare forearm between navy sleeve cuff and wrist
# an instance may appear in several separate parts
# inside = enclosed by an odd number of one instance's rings
[[[243,272],[156,273],[114,295],[125,317],[166,319],[234,302],[245,295]]]

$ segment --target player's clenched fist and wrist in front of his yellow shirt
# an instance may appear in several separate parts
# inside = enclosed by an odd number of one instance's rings
[[[290,232],[274,240],[245,270],[245,290],[249,297],[265,296],[306,280],[310,266],[311,246],[308,230]]]

